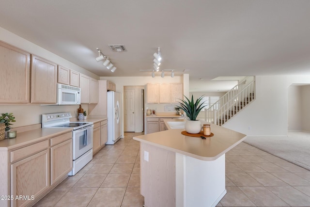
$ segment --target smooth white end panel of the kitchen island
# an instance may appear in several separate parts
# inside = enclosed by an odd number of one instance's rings
[[[182,157],[185,171],[183,177],[184,207],[215,207],[226,194],[225,154],[213,161],[204,161],[189,156]],[[181,157],[178,156],[178,158]],[[180,160],[177,160],[177,163],[180,163]],[[177,188],[178,184],[177,181]]]

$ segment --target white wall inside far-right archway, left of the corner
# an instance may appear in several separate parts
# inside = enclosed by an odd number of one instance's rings
[[[302,129],[301,86],[290,86],[287,89],[288,130]]]

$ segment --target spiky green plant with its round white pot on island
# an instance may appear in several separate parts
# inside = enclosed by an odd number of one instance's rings
[[[204,101],[201,103],[203,96],[197,98],[194,102],[194,97],[192,95],[191,100],[184,96],[186,100],[181,100],[180,108],[186,113],[186,123],[185,130],[190,134],[198,134],[202,130],[202,125],[199,120],[196,120],[199,112],[203,109]]]

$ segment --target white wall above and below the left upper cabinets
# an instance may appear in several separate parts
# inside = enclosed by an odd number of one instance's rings
[[[41,48],[30,41],[17,36],[16,34],[4,30],[0,27],[0,41],[8,43],[16,48],[23,49],[35,54],[37,56],[46,58],[56,64],[61,64],[62,66],[68,67],[79,73],[83,73],[94,79],[99,79],[95,74],[73,64],[62,57]],[[84,110],[88,110],[88,105],[82,105]],[[74,106],[40,106],[38,104],[0,104],[0,113],[13,112],[16,117],[16,122],[12,127],[22,127],[27,125],[39,124],[41,123],[42,113],[56,113],[56,112],[71,112],[73,116],[77,116],[78,105]]]

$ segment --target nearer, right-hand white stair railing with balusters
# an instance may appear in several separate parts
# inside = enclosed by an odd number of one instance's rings
[[[233,96],[229,101],[224,103],[214,112],[214,124],[223,125],[228,119],[223,119],[223,116],[232,117],[240,111],[239,108],[244,108],[249,104],[249,102],[255,100],[254,89],[255,89],[255,79],[252,80],[245,88],[243,88],[237,95]],[[245,101],[249,99],[250,101]],[[242,103],[242,104],[241,104]],[[221,119],[220,119],[221,118]]]

